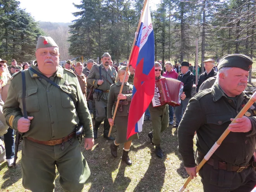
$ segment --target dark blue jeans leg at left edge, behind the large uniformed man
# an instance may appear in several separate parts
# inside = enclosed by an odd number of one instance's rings
[[[5,144],[5,156],[6,159],[14,158],[14,130],[12,128],[8,128],[7,133],[3,135],[3,141]]]

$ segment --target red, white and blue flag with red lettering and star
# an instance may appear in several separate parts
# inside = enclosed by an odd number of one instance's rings
[[[129,63],[136,71],[128,116],[127,139],[131,135],[142,131],[144,112],[154,97],[154,32],[149,3],[147,2],[145,6],[145,14],[142,14],[139,32]]]

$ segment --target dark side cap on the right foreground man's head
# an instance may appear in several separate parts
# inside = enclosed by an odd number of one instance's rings
[[[232,54],[225,55],[221,58],[220,63],[218,64],[218,70],[223,67],[238,67],[249,71],[252,67],[253,60],[242,54]]]

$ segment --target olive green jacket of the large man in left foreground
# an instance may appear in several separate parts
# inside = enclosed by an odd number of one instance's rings
[[[40,72],[35,65],[32,68]],[[58,67],[50,80],[61,86],[60,90],[30,69],[24,72],[26,77],[26,110],[28,116],[34,117],[31,120],[29,131],[24,133],[24,137],[32,137],[41,141],[63,138],[72,133],[80,121],[84,127],[85,137],[93,138],[92,118],[74,73]],[[66,93],[72,95],[76,107]],[[20,72],[12,77],[3,114],[7,125],[17,130],[18,120],[24,114]]]

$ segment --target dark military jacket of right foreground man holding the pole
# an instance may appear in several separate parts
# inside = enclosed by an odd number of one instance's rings
[[[196,131],[196,146],[206,154],[221,134],[248,102],[248,93],[242,92],[236,102],[229,99],[218,84],[211,89],[197,93],[189,105],[178,127],[178,151],[182,155],[185,167],[194,167],[193,138]],[[252,131],[247,133],[230,132],[213,158],[236,166],[249,164],[256,144],[256,117],[252,106],[246,116],[251,120]]]

